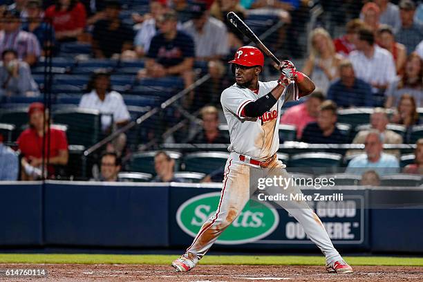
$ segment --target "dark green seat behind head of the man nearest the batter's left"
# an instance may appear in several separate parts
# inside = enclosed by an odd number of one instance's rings
[[[156,153],[157,151],[134,153],[131,156],[127,170],[156,175],[156,170],[154,169],[154,156],[156,156]],[[175,171],[178,171],[182,154],[175,151],[167,151],[167,153],[175,160]]]

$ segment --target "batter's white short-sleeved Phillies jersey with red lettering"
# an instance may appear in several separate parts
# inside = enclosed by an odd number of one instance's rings
[[[241,116],[245,105],[267,95],[278,82],[259,82],[259,93],[249,88],[234,84],[226,88],[220,96],[223,113],[229,127],[231,144],[228,151],[250,156],[255,160],[266,160],[279,149],[279,119],[281,108],[285,102],[298,100],[297,84],[285,88],[278,102],[272,109],[259,118],[244,118]]]

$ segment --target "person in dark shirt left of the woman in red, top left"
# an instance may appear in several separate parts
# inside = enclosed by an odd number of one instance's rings
[[[22,24],[22,30],[32,32],[37,37],[41,55],[51,55],[50,49],[55,46],[55,31],[49,23],[43,21],[44,12],[41,2],[38,0],[28,1],[26,11],[28,12],[28,21]],[[45,53],[46,50],[47,53]]]

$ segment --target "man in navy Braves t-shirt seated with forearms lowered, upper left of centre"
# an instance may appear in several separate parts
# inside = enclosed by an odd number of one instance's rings
[[[159,21],[160,33],[151,39],[145,68],[138,77],[166,77],[180,75],[185,87],[194,83],[194,41],[185,32],[176,29],[178,19],[173,11],[166,12]],[[189,99],[194,99],[191,93]]]

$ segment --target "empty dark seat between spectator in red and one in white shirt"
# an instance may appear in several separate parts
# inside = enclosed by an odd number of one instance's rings
[[[53,120],[68,126],[68,144],[88,148],[100,141],[101,115],[91,109],[64,109],[53,113]]]

